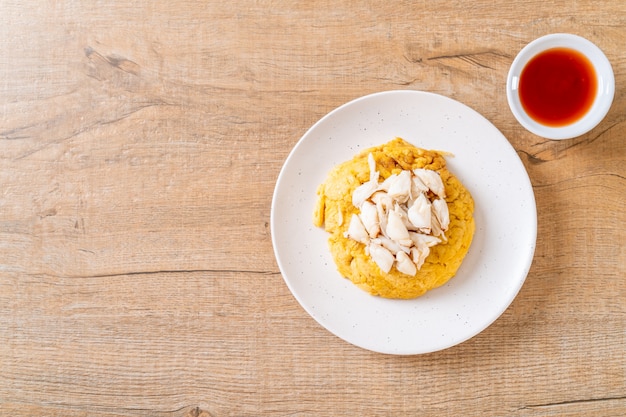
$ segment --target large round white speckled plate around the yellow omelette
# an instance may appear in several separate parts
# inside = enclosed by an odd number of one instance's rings
[[[457,275],[413,300],[374,297],[343,278],[328,233],[313,226],[328,172],[397,136],[452,152],[448,168],[475,202],[476,232]],[[287,286],[319,324],[365,349],[419,354],[475,336],[506,310],[532,262],[537,212],[522,162],[483,116],[437,94],[387,91],[344,104],[304,134],[278,176],[271,232]]]

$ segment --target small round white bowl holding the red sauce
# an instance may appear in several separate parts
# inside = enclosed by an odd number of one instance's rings
[[[589,59],[596,72],[597,93],[590,110],[579,120],[564,126],[551,127],[533,120],[524,110],[519,97],[522,70],[537,54],[552,48],[569,48]],[[596,45],[585,38],[567,33],[555,33],[535,39],[515,57],[506,80],[506,96],[517,121],[530,132],[548,139],[570,139],[596,127],[609,111],[615,94],[615,77],[611,63]]]

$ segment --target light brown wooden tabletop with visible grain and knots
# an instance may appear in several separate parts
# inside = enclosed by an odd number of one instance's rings
[[[615,0],[3,1],[0,415],[626,415],[625,28]],[[506,104],[515,54],[553,32],[615,71],[573,140]],[[269,231],[301,135],[393,89],[482,113],[537,200],[513,304],[421,356],[320,327]]]

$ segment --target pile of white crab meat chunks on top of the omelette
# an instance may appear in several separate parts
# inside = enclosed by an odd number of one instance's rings
[[[448,204],[437,171],[417,168],[390,175],[382,182],[376,161],[367,158],[369,180],[352,193],[359,209],[350,219],[345,237],[365,245],[366,253],[384,272],[392,267],[414,276],[430,248],[447,241]]]

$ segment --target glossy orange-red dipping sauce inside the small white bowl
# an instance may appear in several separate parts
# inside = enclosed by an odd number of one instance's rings
[[[581,119],[596,97],[593,65],[578,51],[553,48],[533,57],[519,80],[519,97],[536,122],[559,127]]]

